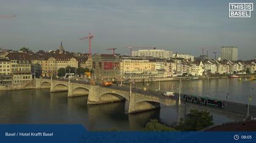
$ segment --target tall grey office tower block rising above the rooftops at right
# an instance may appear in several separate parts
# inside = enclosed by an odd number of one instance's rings
[[[237,61],[238,47],[235,46],[222,46],[221,47],[221,60],[227,59],[230,61]]]

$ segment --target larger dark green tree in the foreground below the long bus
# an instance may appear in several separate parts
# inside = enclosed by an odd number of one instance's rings
[[[197,131],[213,125],[213,116],[208,111],[190,110],[190,114],[185,121],[180,121],[176,130]]]

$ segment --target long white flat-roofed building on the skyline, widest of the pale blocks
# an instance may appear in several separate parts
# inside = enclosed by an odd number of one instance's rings
[[[160,49],[132,51],[132,56],[152,56],[154,58],[170,58],[171,55],[171,51]]]

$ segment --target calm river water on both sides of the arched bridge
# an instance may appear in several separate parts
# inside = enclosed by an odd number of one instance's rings
[[[238,79],[207,79],[182,81],[182,93],[191,93],[228,101],[246,103],[249,95],[251,104],[256,105],[256,94],[252,88],[256,81]],[[158,82],[136,83],[136,87],[155,90]],[[179,81],[160,82],[162,91],[179,91]],[[209,93],[209,94],[208,94]],[[226,97],[228,93],[228,97]],[[176,124],[176,106],[162,105],[160,110],[129,115],[126,102],[87,105],[87,96],[67,98],[67,92],[49,93],[49,89],[0,91],[0,123],[15,124],[82,124],[88,130],[142,130],[150,119],[158,119],[168,125]],[[215,124],[236,121],[223,114],[212,113]]]

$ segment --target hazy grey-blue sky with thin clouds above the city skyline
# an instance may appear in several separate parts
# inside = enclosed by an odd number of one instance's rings
[[[256,57],[256,10],[251,18],[229,18],[231,0],[0,0],[0,48],[129,54],[126,47],[157,47],[199,56],[199,47],[238,47],[239,59]]]

